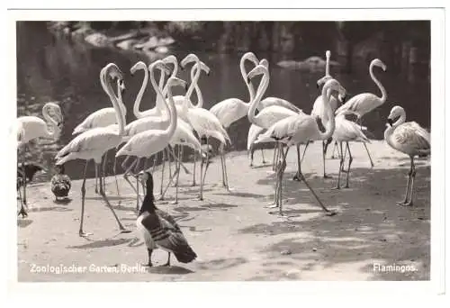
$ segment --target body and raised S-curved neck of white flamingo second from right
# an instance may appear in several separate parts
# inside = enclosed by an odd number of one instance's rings
[[[350,98],[346,104],[341,105],[337,110],[336,114],[342,113],[346,110],[349,110],[353,113],[356,113],[357,120],[362,124],[361,118],[365,115],[365,113],[369,113],[373,111],[376,107],[381,106],[386,102],[387,94],[386,90],[382,83],[374,76],[374,67],[382,68],[383,71],[386,70],[386,66],[382,62],[381,59],[373,59],[369,66],[369,74],[372,80],[380,91],[382,92],[382,97],[378,97],[372,93],[362,93],[359,95],[355,95]]]

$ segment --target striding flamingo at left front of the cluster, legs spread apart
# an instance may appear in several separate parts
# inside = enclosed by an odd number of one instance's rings
[[[109,63],[103,68],[101,72],[101,78],[103,78],[103,90],[110,97],[112,106],[116,113],[116,121],[118,122],[118,126],[110,125],[106,127],[96,127],[88,131],[84,131],[77,135],[73,140],[71,140],[63,149],[60,149],[56,156],[56,159],[58,159],[56,165],[63,165],[67,161],[74,159],[86,160],[83,184],[81,186],[81,218],[80,229],[78,231],[78,234],[81,237],[87,237],[92,234],[83,231],[87,162],[90,159],[94,159],[95,168],[97,168],[98,170],[102,163],[104,153],[106,153],[109,149],[115,148],[121,142],[124,133],[125,116],[122,113],[124,105],[121,102],[120,97],[115,95],[111,83],[108,81],[107,77],[110,77],[111,80],[113,80],[114,78],[118,78],[121,82],[121,80],[123,80],[121,69],[118,68],[114,63]],[[129,233],[130,231],[122,226],[121,221],[112,209],[112,206],[104,193],[102,175],[100,175],[99,177],[99,186],[100,195],[102,195],[103,201],[111,210],[116,222],[119,225],[121,233]]]

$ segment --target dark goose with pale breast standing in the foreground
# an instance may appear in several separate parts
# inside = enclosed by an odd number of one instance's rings
[[[193,261],[193,259],[197,258],[197,255],[187,243],[175,219],[155,206],[152,175],[149,172],[144,172],[141,181],[147,187],[147,194],[140,206],[136,224],[139,231],[142,232],[148,250],[148,264],[146,266],[153,266],[151,254],[157,248],[168,252],[165,267],[170,266],[171,253],[175,255],[179,262],[189,263]]]

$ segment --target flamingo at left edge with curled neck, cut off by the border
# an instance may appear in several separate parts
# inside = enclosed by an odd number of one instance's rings
[[[63,116],[59,105],[53,102],[44,104],[42,116],[45,121],[37,116],[28,115],[18,117],[15,120],[17,149],[25,148],[29,141],[38,138],[58,140],[63,125]],[[23,162],[23,166],[25,166],[25,162]],[[21,198],[21,210],[18,213],[22,217],[28,216],[24,208],[26,205],[26,177],[23,177],[23,198]]]

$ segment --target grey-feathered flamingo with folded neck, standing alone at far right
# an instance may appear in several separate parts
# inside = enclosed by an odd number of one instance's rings
[[[396,122],[394,120],[399,118]],[[392,107],[388,116],[387,128],[384,131],[384,140],[392,149],[396,149],[410,157],[411,168],[406,186],[405,199],[397,204],[403,206],[412,205],[412,192],[416,167],[414,157],[416,155],[428,155],[430,153],[430,135],[417,122],[405,122],[406,113],[401,106]]]

